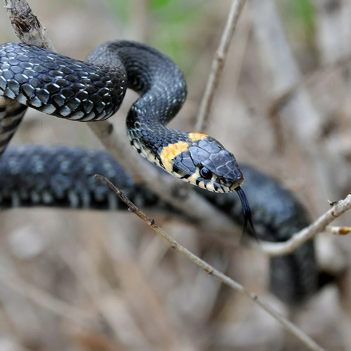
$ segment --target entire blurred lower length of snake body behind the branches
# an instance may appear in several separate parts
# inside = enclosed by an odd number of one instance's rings
[[[243,188],[261,240],[285,241],[309,224],[306,211],[290,192],[257,170],[242,168],[247,179]],[[0,208],[125,210],[125,204],[105,183],[92,178],[95,173],[110,179],[137,206],[165,208],[163,201],[136,183],[106,151],[33,145],[8,148],[0,158]],[[242,208],[236,194],[197,189],[234,222],[242,223]],[[288,256],[271,259],[270,277],[271,291],[285,302],[299,303],[315,292],[318,272],[313,241]]]

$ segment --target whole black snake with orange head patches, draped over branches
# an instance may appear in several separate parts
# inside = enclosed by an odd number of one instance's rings
[[[27,107],[68,120],[99,121],[118,111],[127,88],[139,93],[127,114],[126,131],[141,156],[196,185],[205,199],[243,223],[244,230],[249,222],[255,234],[253,218],[260,239],[284,241],[308,224],[306,211],[292,194],[253,168],[239,167],[218,140],[166,126],[186,99],[183,73],[157,49],[126,40],[101,44],[85,61],[26,44],[0,46],[0,97],[7,98],[0,107],[0,208],[125,208],[91,177],[95,173],[106,175],[138,205],[164,208],[156,194],[137,184],[107,152],[64,146],[7,148]],[[315,292],[314,256],[310,240],[292,254],[272,258],[271,291],[287,302]]]

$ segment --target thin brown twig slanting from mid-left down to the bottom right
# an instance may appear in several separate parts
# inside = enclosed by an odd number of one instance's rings
[[[119,198],[128,206],[128,211],[135,213],[140,219],[145,221],[150,227],[162,238],[164,238],[168,244],[172,247],[172,249],[180,252],[185,257],[190,259],[192,262],[201,267],[204,272],[214,278],[218,279],[220,282],[228,285],[232,289],[239,291],[245,296],[249,297],[255,304],[259,305],[262,309],[264,309],[267,313],[269,313],[274,319],[276,319],[285,330],[290,332],[296,338],[298,338],[302,343],[304,343],[310,350],[318,350],[323,351],[322,347],[318,346],[314,340],[312,340],[308,335],[306,335],[301,329],[299,329],[296,325],[291,323],[289,320],[284,318],[278,311],[274,310],[266,302],[262,301],[256,294],[252,294],[245,289],[245,287],[235,280],[229,278],[225,274],[218,271],[216,268],[212,267],[206,261],[202,260],[198,256],[194,255],[191,251],[187,250],[185,247],[181,246],[178,241],[174,240],[167,233],[165,233],[153,219],[148,217],[143,211],[141,211],[137,206],[135,206],[132,201],[130,201],[125,194],[115,187],[110,180],[106,177],[101,176],[100,174],[95,174],[95,179],[104,181],[110,188],[119,196]],[[351,200],[351,196],[350,196]]]

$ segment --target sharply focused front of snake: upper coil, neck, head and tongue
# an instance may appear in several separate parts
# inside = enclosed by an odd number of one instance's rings
[[[234,155],[216,139],[165,126],[184,104],[186,83],[179,67],[156,49],[109,41],[83,62],[26,44],[0,46],[0,95],[49,115],[75,121],[107,119],[118,111],[127,87],[140,94],[126,119],[128,138],[140,155],[209,191],[240,189],[243,173]],[[0,130],[0,152],[20,120],[8,121],[6,133]],[[240,194],[246,223],[250,207],[242,190]]]

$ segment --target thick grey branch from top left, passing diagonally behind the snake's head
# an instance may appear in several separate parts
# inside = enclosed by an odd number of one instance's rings
[[[27,1],[4,0],[4,3],[11,24],[20,41],[28,45],[45,47],[55,51],[47,36],[45,26],[33,14]],[[128,173],[139,179],[161,199],[186,213],[188,218],[205,224],[214,231],[233,235],[233,222],[228,217],[197,194],[191,186],[187,187],[185,193],[179,192],[179,180],[161,174],[140,155],[133,152],[127,142],[125,132],[123,134],[117,132],[108,121],[87,122],[86,124]],[[124,128],[121,128],[121,130],[124,130]],[[209,213],[211,213],[211,216],[208,216]],[[239,240],[239,237],[237,239]]]

